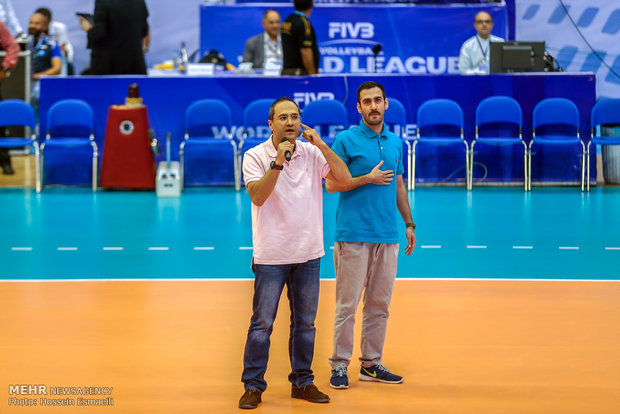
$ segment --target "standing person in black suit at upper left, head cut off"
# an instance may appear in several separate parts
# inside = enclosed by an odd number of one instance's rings
[[[80,17],[94,75],[146,75],[149,15],[144,0],[95,0],[94,25]]]

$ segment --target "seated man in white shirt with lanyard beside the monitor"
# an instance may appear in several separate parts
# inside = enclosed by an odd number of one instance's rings
[[[459,71],[462,75],[486,75],[489,73],[490,43],[503,42],[501,37],[493,36],[493,18],[481,11],[474,17],[476,36],[467,39],[461,46]]]

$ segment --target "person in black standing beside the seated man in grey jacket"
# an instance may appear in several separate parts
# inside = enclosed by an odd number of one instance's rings
[[[295,11],[282,24],[283,75],[319,73],[319,47],[310,23],[313,0],[294,0]]]

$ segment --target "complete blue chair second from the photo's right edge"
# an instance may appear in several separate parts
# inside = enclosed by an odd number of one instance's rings
[[[585,182],[586,146],[579,138],[579,109],[566,98],[547,98],[534,107],[528,151],[528,190],[532,189],[532,146],[581,144],[581,191]],[[537,131],[538,130],[538,131]]]

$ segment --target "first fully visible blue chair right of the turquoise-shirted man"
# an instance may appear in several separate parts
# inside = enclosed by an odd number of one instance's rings
[[[415,188],[416,146],[428,145],[465,145],[465,182],[470,190],[469,147],[463,138],[463,110],[450,99],[430,99],[420,105],[417,118],[417,138],[413,142],[411,165],[411,189]]]

